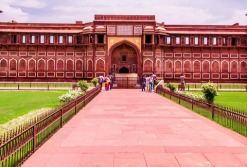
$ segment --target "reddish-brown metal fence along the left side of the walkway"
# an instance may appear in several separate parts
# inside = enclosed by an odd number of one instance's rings
[[[61,108],[30,120],[0,136],[0,167],[20,166],[99,92],[98,86]]]

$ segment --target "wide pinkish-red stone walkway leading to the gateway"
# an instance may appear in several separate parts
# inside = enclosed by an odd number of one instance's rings
[[[247,138],[155,93],[102,91],[23,167],[246,167]]]

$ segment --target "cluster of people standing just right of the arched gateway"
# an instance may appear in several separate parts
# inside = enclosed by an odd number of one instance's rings
[[[151,93],[154,89],[155,80],[156,80],[156,75],[154,73],[151,75],[143,75],[141,77],[142,91],[145,92],[147,90],[148,92]]]

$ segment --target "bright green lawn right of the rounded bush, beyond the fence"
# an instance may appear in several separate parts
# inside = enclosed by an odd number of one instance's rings
[[[247,92],[219,92],[214,103],[237,108],[247,113]]]

